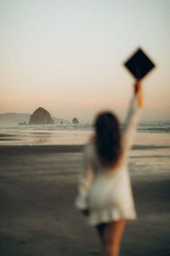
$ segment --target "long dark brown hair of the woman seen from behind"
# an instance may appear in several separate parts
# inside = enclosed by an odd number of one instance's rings
[[[119,121],[111,112],[103,112],[95,120],[95,146],[102,165],[116,165],[122,152]]]

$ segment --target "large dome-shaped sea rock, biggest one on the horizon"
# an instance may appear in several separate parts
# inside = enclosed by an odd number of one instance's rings
[[[30,116],[30,122],[28,125],[53,125],[54,120],[52,119],[50,113],[43,109],[43,107],[38,107],[37,110],[33,112]]]

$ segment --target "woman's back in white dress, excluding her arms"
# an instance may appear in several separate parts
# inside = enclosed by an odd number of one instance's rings
[[[85,155],[93,180],[88,192],[89,223],[97,225],[121,218],[134,219],[135,206],[124,153],[116,165],[109,168],[101,164],[94,144],[85,146]]]

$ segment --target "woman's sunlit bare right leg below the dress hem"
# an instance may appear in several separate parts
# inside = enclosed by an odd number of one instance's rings
[[[106,225],[104,233],[105,256],[119,256],[119,248],[126,220],[113,221]]]

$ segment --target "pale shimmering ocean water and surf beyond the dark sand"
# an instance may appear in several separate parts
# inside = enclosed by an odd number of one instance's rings
[[[139,123],[138,147],[152,145],[169,148],[170,121]],[[0,145],[65,145],[85,144],[93,134],[93,125],[20,125],[0,127]]]

